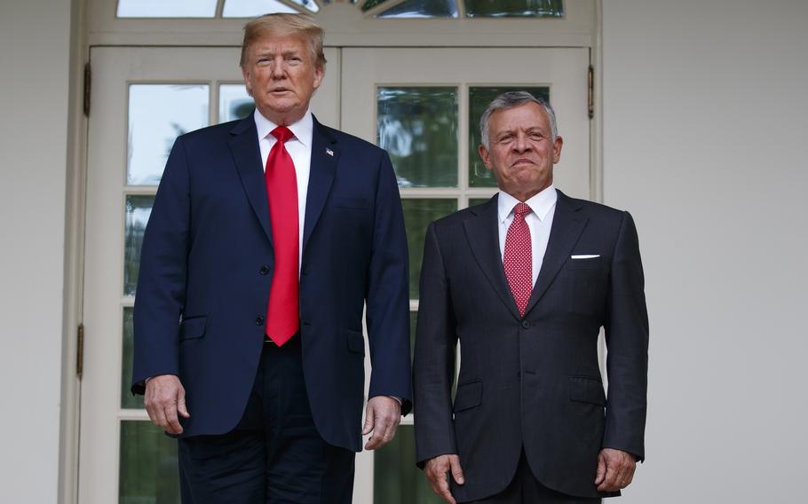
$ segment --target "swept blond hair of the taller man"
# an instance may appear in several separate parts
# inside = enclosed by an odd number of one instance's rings
[[[244,26],[242,59],[239,61],[239,65],[244,67],[247,63],[247,53],[253,43],[267,36],[279,35],[302,37],[308,43],[314,67],[318,69],[325,67],[326,57],[322,53],[322,38],[325,32],[310,16],[289,13],[265,14]]]

